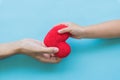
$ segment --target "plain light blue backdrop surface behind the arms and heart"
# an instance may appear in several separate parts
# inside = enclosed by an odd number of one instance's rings
[[[0,42],[43,40],[53,25],[82,26],[120,19],[120,0],[0,0]],[[59,64],[25,55],[0,60],[0,80],[120,80],[120,39],[67,41],[71,54]]]

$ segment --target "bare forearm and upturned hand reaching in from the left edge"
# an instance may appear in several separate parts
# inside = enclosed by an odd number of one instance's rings
[[[54,55],[58,51],[56,47],[46,47],[43,42],[33,39],[0,44],[1,59],[15,54],[25,54],[42,62],[58,63],[61,59]]]

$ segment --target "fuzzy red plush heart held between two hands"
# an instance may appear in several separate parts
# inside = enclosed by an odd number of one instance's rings
[[[44,39],[44,43],[47,47],[58,47],[59,52],[56,53],[55,55],[59,58],[64,58],[69,55],[71,52],[70,46],[65,42],[70,34],[69,33],[64,33],[64,34],[59,34],[58,30],[62,28],[66,28],[67,26],[64,24],[60,24],[57,26],[54,26],[46,35]]]

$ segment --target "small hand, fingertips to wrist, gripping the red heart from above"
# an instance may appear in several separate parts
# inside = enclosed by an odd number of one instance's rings
[[[68,26],[67,28],[61,29],[58,32],[60,34],[69,32],[71,34],[71,37],[79,39],[82,38],[82,36],[84,35],[84,27],[81,27],[75,23],[61,23],[61,24],[65,24],[66,26]]]

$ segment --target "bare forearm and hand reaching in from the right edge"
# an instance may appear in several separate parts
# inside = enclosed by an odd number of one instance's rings
[[[61,29],[60,34],[69,32],[71,37],[80,38],[118,38],[120,37],[120,20],[104,22],[101,24],[80,26],[75,23],[62,23],[67,25],[67,28]]]

